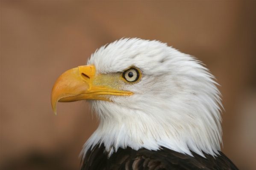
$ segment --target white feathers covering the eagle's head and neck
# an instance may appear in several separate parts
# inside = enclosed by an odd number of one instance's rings
[[[200,61],[159,41],[121,39],[98,49],[88,64],[97,74],[115,74],[131,66],[141,71],[135,84],[119,82],[130,96],[91,100],[100,125],[82,152],[98,142],[111,155],[119,147],[167,147],[203,156],[220,150],[220,92]]]

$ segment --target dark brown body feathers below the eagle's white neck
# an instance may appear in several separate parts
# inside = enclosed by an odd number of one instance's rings
[[[87,151],[81,170],[238,170],[224,153],[206,158],[191,152],[194,157],[165,147],[162,150],[133,150],[119,148],[110,158],[103,144]]]

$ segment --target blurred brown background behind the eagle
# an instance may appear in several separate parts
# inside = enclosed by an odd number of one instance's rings
[[[121,37],[160,40],[193,55],[223,95],[222,151],[256,169],[255,1],[0,1],[0,169],[78,170],[97,128],[85,101],[50,93],[68,69]]]

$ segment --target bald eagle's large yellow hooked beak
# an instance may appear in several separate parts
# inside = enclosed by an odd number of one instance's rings
[[[132,92],[120,91],[104,82],[95,81],[94,65],[78,66],[64,72],[55,82],[51,94],[53,112],[56,114],[57,102],[79,100],[110,101],[109,95],[133,95]],[[95,83],[97,82],[97,83]]]

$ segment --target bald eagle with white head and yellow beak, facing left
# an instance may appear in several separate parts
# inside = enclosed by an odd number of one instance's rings
[[[214,76],[166,43],[121,39],[64,72],[51,103],[87,100],[100,120],[82,170],[238,170],[221,152]]]

